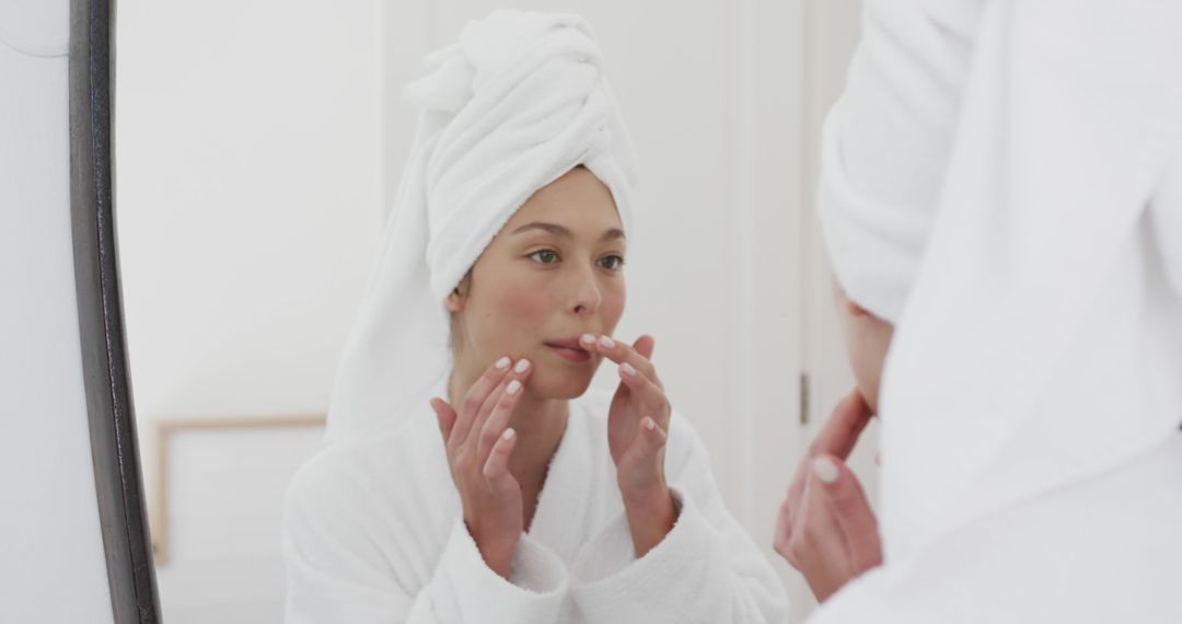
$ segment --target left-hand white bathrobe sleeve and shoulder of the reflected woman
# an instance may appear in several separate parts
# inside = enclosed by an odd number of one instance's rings
[[[462,519],[442,553],[426,547],[437,534],[429,516],[413,501],[383,507],[383,496],[353,487],[350,472],[313,460],[288,488],[287,624],[556,622],[567,592],[552,552],[522,535],[506,580],[485,564]]]

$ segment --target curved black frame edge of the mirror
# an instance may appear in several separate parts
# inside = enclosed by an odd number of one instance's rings
[[[70,1],[70,214],[103,551],[118,624],[160,622],[116,255],[112,0]]]

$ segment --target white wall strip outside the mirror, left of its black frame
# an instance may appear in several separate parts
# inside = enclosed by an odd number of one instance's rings
[[[66,0],[0,0],[0,622],[111,622],[70,227]]]

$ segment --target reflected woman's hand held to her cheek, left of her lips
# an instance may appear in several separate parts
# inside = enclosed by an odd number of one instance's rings
[[[505,578],[525,525],[521,487],[508,470],[517,444],[508,424],[533,370],[526,359],[512,364],[504,357],[489,366],[463,397],[459,414],[447,401],[431,399],[468,533],[488,567]]]

